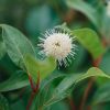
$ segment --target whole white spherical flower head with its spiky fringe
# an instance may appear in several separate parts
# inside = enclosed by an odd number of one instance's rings
[[[66,31],[53,29],[45,32],[44,38],[40,37],[41,44],[38,45],[43,48],[43,54],[55,57],[61,66],[63,63],[67,66],[75,54],[74,38]]]

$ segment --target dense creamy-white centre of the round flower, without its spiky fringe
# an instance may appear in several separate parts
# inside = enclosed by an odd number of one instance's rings
[[[64,33],[54,33],[44,41],[44,52],[56,59],[65,58],[72,50],[72,38]]]

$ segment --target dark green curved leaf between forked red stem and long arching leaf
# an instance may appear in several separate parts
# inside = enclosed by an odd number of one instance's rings
[[[41,82],[41,87],[40,87],[40,91],[36,95],[32,108],[31,110],[40,110],[38,108],[43,107],[44,108],[44,103],[50,100],[51,95],[53,94],[53,82],[56,82],[57,79],[62,79],[64,78],[66,75],[65,74],[59,74],[59,73],[53,73],[52,75],[50,75],[48,77],[46,77],[42,82]],[[42,108],[42,109],[43,109]]]

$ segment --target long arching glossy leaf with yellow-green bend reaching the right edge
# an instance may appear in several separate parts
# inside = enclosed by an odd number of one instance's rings
[[[56,88],[54,96],[55,97],[61,96],[59,99],[65,98],[65,96],[67,95],[67,92],[72,86],[76,86],[77,82],[79,82],[88,77],[91,77],[91,76],[110,78],[110,76],[103,74],[103,72],[101,72],[100,69],[92,67],[86,74],[73,74],[73,75],[69,75],[68,77],[66,77]],[[74,89],[74,87],[73,87],[73,89]],[[64,95],[64,97],[63,97],[63,95]]]

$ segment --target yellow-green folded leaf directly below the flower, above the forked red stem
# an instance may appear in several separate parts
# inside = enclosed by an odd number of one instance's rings
[[[44,61],[35,59],[31,55],[24,57],[28,73],[33,76],[36,82],[36,74],[40,73],[40,79],[44,79],[56,68],[56,61],[53,57],[47,57]]]

